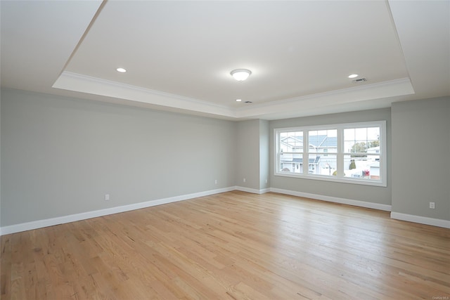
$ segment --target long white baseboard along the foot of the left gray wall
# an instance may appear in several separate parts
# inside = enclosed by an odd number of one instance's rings
[[[58,224],[70,223],[75,221],[81,221],[91,218],[96,218],[98,216],[107,216],[109,214],[117,214],[124,211],[131,211],[134,209],[143,209],[146,207],[154,207],[160,204],[167,204],[172,202],[178,202],[183,200],[189,200],[197,197],[203,197],[208,195],[214,195],[219,193],[230,192],[231,190],[236,190],[235,186],[229,188],[219,188],[217,190],[207,190],[205,192],[193,193],[187,195],[180,195],[175,197],[168,197],[158,200],[151,200],[147,202],[139,202],[134,204],[122,205],[120,207],[111,207],[108,209],[100,209],[96,211],[86,211],[80,214],[71,214],[68,216],[58,216],[56,218],[32,221],[27,223],[20,223],[11,226],[4,226],[0,228],[0,235],[8,235],[10,233],[19,233],[21,231],[33,230],[37,228],[44,228],[47,226],[54,226]]]

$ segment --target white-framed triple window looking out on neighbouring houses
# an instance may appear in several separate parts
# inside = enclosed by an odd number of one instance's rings
[[[386,186],[386,122],[274,129],[276,176]]]

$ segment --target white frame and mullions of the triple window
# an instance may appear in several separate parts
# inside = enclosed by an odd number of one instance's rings
[[[344,152],[344,130],[354,129],[354,128],[367,128],[367,127],[379,127],[380,128],[380,179],[366,179],[366,178],[352,178],[344,176],[344,159],[347,152]],[[309,174],[309,164],[303,164],[302,173],[293,172],[282,172],[279,167],[281,164],[281,155],[279,152],[280,145],[280,133],[287,131],[303,131],[303,152],[302,161],[309,163],[309,131],[319,131],[319,130],[337,130],[337,153],[328,152],[328,155],[336,155],[337,157],[337,169],[338,172],[336,176],[324,176],[319,174]],[[299,127],[287,127],[287,128],[276,128],[274,129],[274,175],[284,176],[284,177],[294,177],[303,179],[312,179],[320,181],[332,181],[340,183],[354,183],[361,185],[375,185],[375,186],[387,186],[387,149],[386,149],[386,121],[373,121],[373,122],[357,122],[357,123],[345,123],[345,124],[327,124],[319,126],[299,126]]]

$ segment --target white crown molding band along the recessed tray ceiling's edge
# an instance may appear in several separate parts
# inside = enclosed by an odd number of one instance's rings
[[[120,98],[137,103],[160,105],[191,112],[202,112],[208,115],[217,115],[228,117],[230,119],[258,118],[264,115],[294,110],[313,110],[317,107],[330,107],[333,105],[357,103],[394,96],[405,96],[414,93],[411,80],[409,78],[402,78],[328,91],[325,93],[276,100],[259,105],[255,104],[246,107],[231,108],[195,98],[155,91],[141,86],[123,84],[117,81],[110,81],[68,71],[64,71],[60,74],[60,77],[58,77],[52,87],[98,96]]]

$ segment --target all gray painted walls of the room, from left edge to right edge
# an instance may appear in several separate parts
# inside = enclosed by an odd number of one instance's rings
[[[441,98],[392,110],[229,122],[2,90],[0,224],[235,185],[392,204],[393,212],[450,220],[449,114],[450,98]],[[387,121],[387,188],[274,176],[274,128],[375,120]]]

